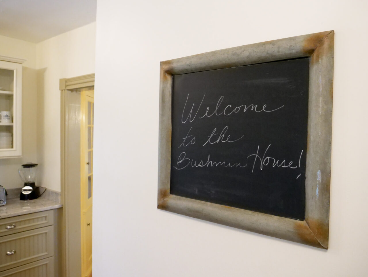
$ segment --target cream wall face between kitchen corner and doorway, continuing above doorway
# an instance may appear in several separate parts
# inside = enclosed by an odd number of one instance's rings
[[[42,41],[36,47],[39,185],[60,191],[59,80],[95,72],[96,23]]]

